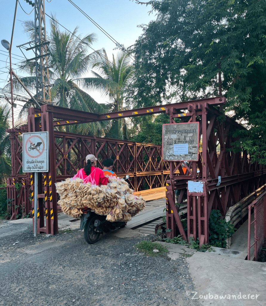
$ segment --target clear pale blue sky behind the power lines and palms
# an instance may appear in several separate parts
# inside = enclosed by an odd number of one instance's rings
[[[23,9],[27,13],[30,13],[32,7],[25,0],[19,1]],[[130,0],[73,0],[73,2],[115,38],[115,40],[124,44],[125,47],[133,45],[138,36],[141,35],[142,30],[137,25],[148,24],[149,21],[156,18],[154,13],[149,15],[148,11],[151,9],[149,6],[137,5]],[[16,0],[0,0],[0,40],[6,39],[10,42],[15,4]],[[115,44],[67,0],[52,0],[50,3],[46,0],[45,11],[49,15],[51,13],[56,14],[58,21],[70,31],[73,31],[76,26],[79,26],[78,34],[82,34],[82,36],[95,33],[98,41],[93,44],[93,48],[97,50],[104,47],[109,58],[111,58],[112,53],[116,52],[116,50],[113,50]],[[12,63],[14,64],[19,62],[20,56],[23,56],[16,46],[29,41],[29,38],[23,32],[21,21],[30,19],[34,19],[34,12],[31,15],[27,15],[18,4],[12,46],[12,53],[16,54],[12,55]],[[49,32],[49,17],[47,16],[46,29]],[[60,29],[64,30],[61,27]],[[9,78],[9,59],[8,53],[5,51],[7,50],[0,44],[0,88],[6,84],[5,81]],[[13,69],[18,75],[22,74],[16,70],[16,65],[13,65]]]

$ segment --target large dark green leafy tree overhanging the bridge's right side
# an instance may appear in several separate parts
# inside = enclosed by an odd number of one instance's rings
[[[249,129],[238,131],[242,147],[266,164],[266,2],[148,4],[157,19],[142,26],[135,44],[135,104],[161,104],[170,95],[183,101],[225,95],[225,111]]]

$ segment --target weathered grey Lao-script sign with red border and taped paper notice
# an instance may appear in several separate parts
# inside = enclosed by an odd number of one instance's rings
[[[165,161],[198,161],[199,122],[163,124],[162,157]]]

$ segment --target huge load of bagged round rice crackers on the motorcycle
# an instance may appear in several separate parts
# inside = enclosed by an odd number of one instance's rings
[[[81,208],[89,207],[98,215],[106,215],[111,222],[129,221],[145,208],[141,196],[133,195],[124,179],[108,177],[107,185],[91,185],[81,178],[68,178],[56,183],[56,192],[60,195],[58,205],[62,211],[74,218],[82,215]]]

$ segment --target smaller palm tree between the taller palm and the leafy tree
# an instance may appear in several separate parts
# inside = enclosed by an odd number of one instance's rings
[[[130,51],[120,51],[116,56],[113,54],[112,62],[108,60],[105,49],[104,56],[93,65],[97,71],[92,71],[94,77],[78,80],[87,90],[99,90],[103,96],[108,96],[111,100],[109,111],[122,111],[125,90],[133,79],[134,68],[130,64]],[[128,132],[125,119],[113,120],[111,129],[106,133],[106,137],[127,139]]]

